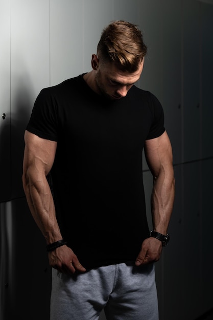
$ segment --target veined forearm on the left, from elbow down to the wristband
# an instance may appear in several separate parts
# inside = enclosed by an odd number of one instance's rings
[[[31,214],[43,234],[46,243],[62,239],[55,215],[55,205],[46,177],[23,177],[23,189]]]

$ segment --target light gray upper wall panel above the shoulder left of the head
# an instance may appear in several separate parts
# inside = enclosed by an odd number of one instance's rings
[[[83,73],[83,1],[50,1],[51,85]]]

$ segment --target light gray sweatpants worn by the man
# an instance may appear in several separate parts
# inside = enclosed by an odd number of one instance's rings
[[[158,320],[154,265],[134,262],[65,275],[53,269],[51,320]]]

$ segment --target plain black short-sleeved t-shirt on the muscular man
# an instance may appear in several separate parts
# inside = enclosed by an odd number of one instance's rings
[[[133,86],[110,101],[83,75],[44,88],[27,130],[57,141],[51,176],[63,238],[86,268],[135,260],[149,236],[142,151],[164,132],[158,99]]]

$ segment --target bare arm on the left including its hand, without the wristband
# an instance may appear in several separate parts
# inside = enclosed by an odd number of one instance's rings
[[[31,214],[42,232],[46,244],[62,239],[56,219],[55,205],[46,179],[50,172],[57,148],[57,142],[39,138],[25,132],[25,154],[23,157],[23,189]],[[72,249],[63,245],[49,253],[50,265],[61,272],[85,271]]]

